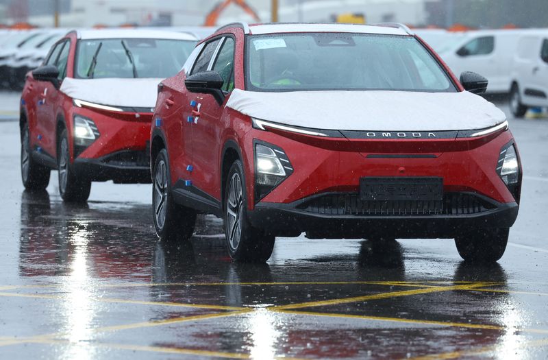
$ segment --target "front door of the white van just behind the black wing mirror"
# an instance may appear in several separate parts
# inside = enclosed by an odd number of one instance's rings
[[[451,70],[457,76],[460,76],[464,71],[474,71],[489,80],[489,87],[498,86],[500,74],[495,56],[495,36],[473,38],[460,47],[455,55],[451,61]]]

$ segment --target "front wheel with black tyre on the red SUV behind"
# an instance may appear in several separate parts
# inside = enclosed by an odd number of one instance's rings
[[[73,171],[66,129],[58,141],[57,163],[59,169],[59,193],[65,202],[86,202],[90,197],[91,182],[79,178]]]

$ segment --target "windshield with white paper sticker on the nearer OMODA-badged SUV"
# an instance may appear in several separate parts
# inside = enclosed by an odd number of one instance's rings
[[[456,91],[438,62],[411,36],[249,36],[247,59],[251,91]]]

